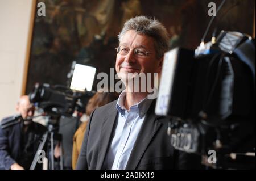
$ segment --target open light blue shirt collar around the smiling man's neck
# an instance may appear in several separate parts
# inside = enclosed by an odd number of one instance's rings
[[[119,98],[117,100],[117,105],[116,105],[117,111],[119,113],[121,113],[122,116],[125,114],[125,111],[126,111],[126,108],[125,108],[125,105],[124,105],[125,97],[126,97],[126,91],[123,91],[119,95]],[[153,100],[154,99],[147,99],[147,97],[146,97],[146,98],[142,99],[139,103],[131,106],[131,108],[137,107],[137,110],[138,110],[137,113],[139,115],[139,118],[141,119],[144,115],[146,115],[147,110],[150,107]]]

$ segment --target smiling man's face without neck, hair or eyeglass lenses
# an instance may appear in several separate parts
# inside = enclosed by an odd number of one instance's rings
[[[126,55],[117,53],[115,69],[117,73],[121,73],[119,78],[125,82],[128,73],[160,73],[162,68],[162,58],[156,58],[154,48],[154,40],[146,35],[138,35],[134,30],[125,33],[120,41],[120,45],[130,48],[130,52]],[[134,49],[141,47],[147,52],[147,56],[138,56],[134,54]]]

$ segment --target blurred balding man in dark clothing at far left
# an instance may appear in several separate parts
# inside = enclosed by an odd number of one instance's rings
[[[19,115],[6,117],[0,123],[0,169],[30,169],[39,139],[46,132],[46,127],[32,121],[35,107],[28,95],[20,97],[16,111]],[[36,169],[42,169],[42,164]]]

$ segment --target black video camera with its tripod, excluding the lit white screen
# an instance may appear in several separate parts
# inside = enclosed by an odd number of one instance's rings
[[[46,151],[46,157],[49,162],[48,169],[63,169],[63,144],[62,134],[59,133],[60,117],[71,117],[74,111],[85,112],[85,106],[88,100],[93,96],[92,91],[75,91],[63,86],[49,86],[47,84],[39,85],[36,83],[33,91],[30,93],[30,102],[36,103],[36,106],[42,108],[47,120],[47,132],[43,135],[42,141],[38,146],[38,151]],[[76,125],[79,125],[79,114],[76,117]],[[56,144],[60,147],[60,158],[53,157]],[[36,154],[30,166],[34,170],[38,164],[39,154]]]

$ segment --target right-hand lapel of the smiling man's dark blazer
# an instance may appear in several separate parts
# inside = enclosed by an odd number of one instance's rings
[[[148,113],[143,121],[141,131],[139,131],[137,140],[135,141],[129,161],[127,162],[125,168],[127,170],[136,169],[148,144],[154,137],[156,131],[158,131],[158,129],[160,128],[160,125],[162,125],[162,123],[156,120],[156,118],[158,117],[156,117],[154,114],[154,108],[155,101],[151,104],[150,108],[148,109]]]

